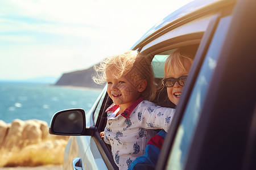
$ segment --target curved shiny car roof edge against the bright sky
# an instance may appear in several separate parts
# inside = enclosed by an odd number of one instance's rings
[[[139,47],[141,48],[147,42],[150,42],[157,37],[163,35],[168,27],[171,25],[180,23],[181,21],[188,20],[189,22],[191,18],[199,18],[205,12],[213,12],[214,10],[219,10],[221,7],[226,5],[230,5],[230,3],[235,3],[236,0],[195,0],[187,5],[179,8],[178,10],[172,12],[170,15],[166,16],[166,18],[162,19],[159,23],[155,24],[152,28],[150,28],[142,37],[139,39],[131,49],[137,50]]]

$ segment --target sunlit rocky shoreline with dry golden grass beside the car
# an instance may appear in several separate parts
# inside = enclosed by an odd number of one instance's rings
[[[61,165],[68,136],[50,135],[47,122],[0,120],[0,167]]]

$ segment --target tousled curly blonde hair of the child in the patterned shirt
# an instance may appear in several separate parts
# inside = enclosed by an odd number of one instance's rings
[[[134,86],[138,86],[141,80],[146,79],[146,89],[141,92],[141,96],[146,100],[154,100],[156,94],[156,86],[154,82],[154,73],[151,68],[151,62],[143,54],[130,50],[126,53],[115,55],[106,58],[95,65],[96,75],[92,77],[97,84],[106,82],[106,70],[114,70],[115,78],[127,76],[127,79],[132,80]]]

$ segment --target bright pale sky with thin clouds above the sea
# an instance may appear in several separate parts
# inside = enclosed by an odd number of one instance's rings
[[[191,1],[1,0],[0,80],[88,69]]]

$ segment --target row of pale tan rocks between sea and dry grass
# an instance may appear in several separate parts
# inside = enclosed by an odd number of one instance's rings
[[[11,125],[0,121],[0,148],[6,150],[21,149],[46,140],[68,140],[68,136],[49,135],[47,122],[40,120],[22,121],[15,119]]]

